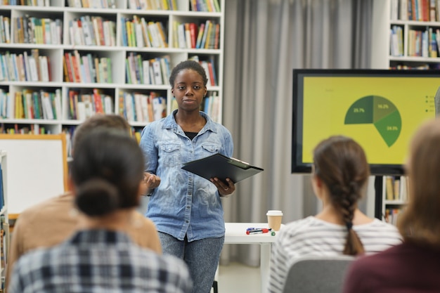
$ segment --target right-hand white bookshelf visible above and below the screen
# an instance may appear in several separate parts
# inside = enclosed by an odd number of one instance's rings
[[[440,69],[439,1],[374,0],[372,68]],[[375,216],[396,223],[408,200],[406,176],[376,176]]]

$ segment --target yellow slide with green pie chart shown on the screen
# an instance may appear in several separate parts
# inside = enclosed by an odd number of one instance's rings
[[[349,136],[370,164],[404,164],[422,122],[435,117],[439,77],[304,77],[302,161],[325,138]]]

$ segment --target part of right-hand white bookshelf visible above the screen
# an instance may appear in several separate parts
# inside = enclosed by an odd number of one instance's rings
[[[374,0],[372,67],[440,69],[438,2]]]

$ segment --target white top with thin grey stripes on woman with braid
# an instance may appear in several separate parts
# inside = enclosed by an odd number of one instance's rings
[[[400,244],[401,235],[389,223],[374,219],[371,223],[353,226],[362,241],[365,254],[382,252]],[[299,256],[335,256],[342,254],[347,228],[328,223],[314,216],[284,226],[272,248],[268,292],[283,292],[290,265]]]

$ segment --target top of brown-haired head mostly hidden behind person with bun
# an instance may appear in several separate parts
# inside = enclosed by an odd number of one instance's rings
[[[80,124],[73,135],[73,150],[82,138],[94,129],[119,129],[130,132],[131,126],[124,117],[115,114],[96,114]]]

